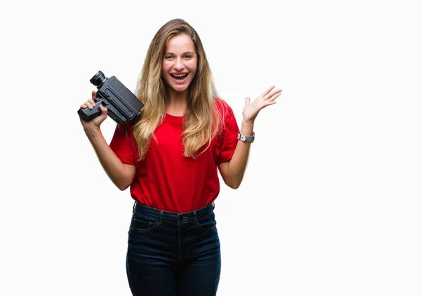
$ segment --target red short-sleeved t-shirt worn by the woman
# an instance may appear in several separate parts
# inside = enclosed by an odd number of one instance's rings
[[[116,126],[109,147],[123,163],[136,167],[130,187],[135,201],[175,213],[197,210],[215,201],[220,192],[218,164],[232,158],[239,133],[231,107],[226,104],[218,107],[225,109],[225,126],[196,159],[183,156],[182,116],[166,114],[142,161],[138,161],[133,126]]]

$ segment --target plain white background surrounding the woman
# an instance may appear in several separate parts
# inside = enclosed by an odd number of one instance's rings
[[[130,295],[133,200],[76,111],[98,70],[134,90],[173,18],[201,36],[239,123],[246,96],[283,89],[256,120],[243,184],[215,203],[218,296],[421,295],[415,2],[2,4],[0,295]]]

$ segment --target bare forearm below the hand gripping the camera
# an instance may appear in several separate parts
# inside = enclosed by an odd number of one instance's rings
[[[89,128],[85,130],[85,133],[109,179],[121,190],[130,186],[133,177],[127,170],[128,165],[122,163],[112,151],[101,130],[99,128]]]

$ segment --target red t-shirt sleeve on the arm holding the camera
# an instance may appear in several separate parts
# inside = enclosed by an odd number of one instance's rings
[[[133,153],[132,130],[126,124],[117,124],[116,130],[109,147],[119,157],[121,162],[135,166],[135,154]]]

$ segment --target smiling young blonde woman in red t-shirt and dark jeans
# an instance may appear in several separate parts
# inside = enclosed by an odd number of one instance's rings
[[[238,188],[246,170],[254,121],[281,95],[274,86],[246,98],[241,130],[215,91],[201,39],[184,20],[154,36],[136,95],[140,119],[117,125],[109,144],[100,124],[107,109],[81,120],[102,167],[135,201],[126,270],[133,295],[216,295],[220,241],[213,201],[225,184]],[[92,93],[95,98],[95,91]],[[81,105],[92,109],[91,99]]]

